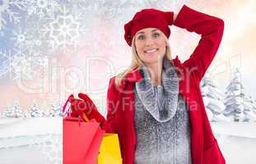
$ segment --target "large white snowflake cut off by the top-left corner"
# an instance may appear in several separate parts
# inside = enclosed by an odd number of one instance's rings
[[[7,25],[7,21],[18,24],[21,21],[20,11],[25,11],[28,1],[27,0],[2,0],[0,6],[0,30]],[[15,11],[16,10],[16,11]],[[7,20],[5,20],[7,19]]]

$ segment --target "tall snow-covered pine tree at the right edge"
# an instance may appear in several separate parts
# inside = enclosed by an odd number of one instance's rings
[[[255,121],[256,115],[250,95],[241,83],[241,73],[238,68],[232,71],[230,84],[226,87],[224,99],[226,109],[224,115],[234,121]]]

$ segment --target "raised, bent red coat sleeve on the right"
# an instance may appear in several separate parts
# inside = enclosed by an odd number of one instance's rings
[[[183,63],[184,67],[189,69],[189,73],[196,75],[200,81],[219,48],[224,31],[224,21],[184,5],[180,9],[174,25],[189,32],[201,34],[198,46],[189,59]]]

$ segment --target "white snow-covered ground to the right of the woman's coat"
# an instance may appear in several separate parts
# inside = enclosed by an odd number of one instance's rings
[[[212,130],[227,164],[256,163],[256,123],[212,122]]]

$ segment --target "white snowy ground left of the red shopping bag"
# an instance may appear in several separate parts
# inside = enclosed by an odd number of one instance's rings
[[[62,163],[62,117],[0,119],[1,164]]]

